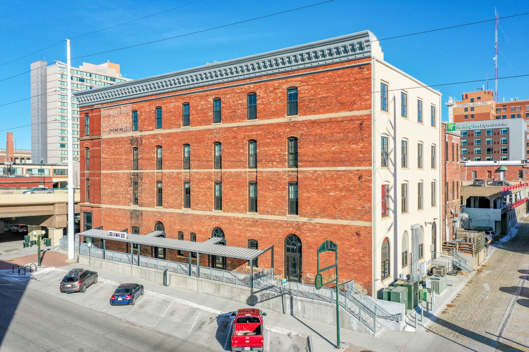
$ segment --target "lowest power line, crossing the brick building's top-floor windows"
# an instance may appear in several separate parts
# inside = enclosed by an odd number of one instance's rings
[[[519,75],[515,75],[515,76],[499,77],[498,79],[499,80],[503,80],[503,79],[513,79],[513,78],[521,78],[521,77],[529,77],[529,74],[519,74]],[[439,84],[432,84],[432,85],[416,85],[414,87],[406,87],[406,88],[401,87],[401,88],[388,89],[388,92],[402,91],[402,90],[412,90],[412,89],[418,89],[418,88],[443,87],[445,85],[476,83],[476,82],[482,82],[482,81],[486,81],[486,80],[487,79],[478,79],[478,80],[459,81],[459,82],[450,82],[450,83],[439,83]],[[317,98],[305,98],[305,99],[298,99],[298,101],[311,101],[311,100],[316,100],[316,99],[352,97],[352,96],[367,95],[367,94],[372,94],[372,93],[380,93],[380,91],[367,91],[367,92],[354,93],[354,94],[340,94],[340,95],[335,95],[335,96],[325,96],[325,97],[317,97]],[[160,99],[163,99],[163,97],[160,97]],[[285,100],[265,102],[265,103],[259,102],[258,104],[259,105],[266,105],[266,104],[278,104],[278,103],[285,103]],[[236,107],[245,107],[245,106],[247,106],[247,105],[246,104],[223,104],[223,109],[226,108],[226,107],[236,108]],[[200,110],[212,110],[212,107],[210,106],[210,107],[207,107],[207,108],[193,108],[193,111],[200,111]],[[164,113],[181,113],[180,110],[178,110],[178,111],[165,110],[163,112]],[[156,114],[156,112],[154,112],[154,111],[153,112],[142,112],[142,116],[154,116],[155,114]],[[101,115],[101,114],[100,113],[92,114],[92,115],[90,115],[90,118],[101,118],[101,116],[97,116],[97,115]],[[67,120],[65,120],[65,121],[67,121]],[[24,128],[24,127],[31,127],[31,126],[35,126],[35,125],[41,125],[42,123],[46,123],[46,122],[47,121],[35,122],[35,123],[31,123],[30,125],[24,125],[24,126],[12,127],[12,128],[0,129],[0,132],[9,131],[9,130],[18,129],[18,128]],[[58,122],[60,122],[60,121],[58,121]],[[79,121],[74,121],[74,122],[79,122]]]

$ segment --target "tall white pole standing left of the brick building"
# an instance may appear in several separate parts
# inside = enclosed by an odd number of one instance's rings
[[[68,259],[74,259],[74,150],[72,139],[74,135],[71,130],[71,63],[70,63],[70,40],[67,45],[67,80],[68,80]]]

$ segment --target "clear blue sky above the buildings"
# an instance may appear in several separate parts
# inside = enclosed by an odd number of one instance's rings
[[[166,37],[249,20],[313,1],[125,1],[103,2],[1,2],[0,80],[29,71],[36,60],[66,60],[66,44],[52,46],[13,63],[21,56],[65,38],[166,11],[140,21],[71,40],[72,58],[140,44]],[[118,4],[118,5],[114,5]],[[427,4],[427,5],[426,5]],[[119,7],[118,7],[119,6]],[[121,65],[122,74],[138,79],[166,72],[224,61],[339,35],[370,30],[378,39],[433,30],[529,12],[527,1],[385,2],[371,0],[333,2],[163,41],[72,60],[99,64],[110,60]],[[499,77],[529,74],[529,15],[500,20]],[[380,42],[390,64],[418,80],[434,85],[486,79],[494,89],[494,21]],[[4,64],[4,65],[3,65]],[[500,80],[499,100],[529,99],[529,77]],[[461,96],[487,82],[434,87],[443,93],[443,120],[448,97]],[[6,129],[14,132],[16,148],[31,149],[30,74],[0,82],[0,148],[5,148]],[[13,101],[21,102],[11,103]],[[3,106],[2,106],[3,105]]]

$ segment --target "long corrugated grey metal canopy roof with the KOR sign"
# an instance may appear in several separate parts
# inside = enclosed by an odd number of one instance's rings
[[[250,248],[241,248],[233,246],[218,245],[223,239],[221,237],[212,237],[205,242],[191,242],[185,240],[167,239],[165,237],[157,237],[163,235],[163,231],[154,231],[148,235],[140,235],[134,233],[127,233],[126,239],[109,236],[108,231],[90,229],[84,232],[77,233],[78,236],[92,237],[95,239],[112,240],[118,242],[126,242],[139,245],[147,245],[153,247],[161,247],[167,249],[174,249],[185,252],[194,252],[199,254],[226,256],[228,258],[253,260],[258,256],[267,252],[273,246],[266,250],[257,250]]]

